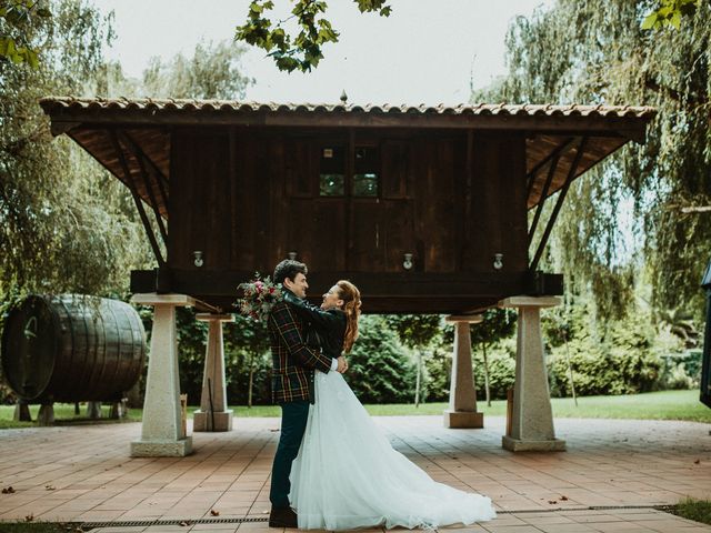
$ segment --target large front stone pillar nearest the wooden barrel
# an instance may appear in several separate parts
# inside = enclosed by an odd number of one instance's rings
[[[140,305],[153,305],[153,330],[148,359],[141,439],[131,443],[133,457],[176,457],[192,452],[192,436],[184,434],[180,411],[176,308],[194,305],[183,294],[134,294]]]

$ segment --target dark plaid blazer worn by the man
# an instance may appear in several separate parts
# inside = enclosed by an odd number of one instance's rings
[[[332,359],[306,344],[303,322],[287,302],[269,314],[271,342],[271,398],[274,403],[308,400],[313,403],[313,371],[328,372]]]

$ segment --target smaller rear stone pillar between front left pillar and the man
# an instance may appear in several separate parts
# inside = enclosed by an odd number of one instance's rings
[[[222,322],[234,322],[231,314],[200,313],[198,320],[208,322],[208,345],[204,354],[200,410],[193,413],[192,431],[232,431],[232,411],[227,409],[224,388],[224,344]],[[212,399],[212,403],[210,403]]]

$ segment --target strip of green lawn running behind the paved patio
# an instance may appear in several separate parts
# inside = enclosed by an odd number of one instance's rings
[[[711,423],[711,409],[699,402],[699,391],[662,391],[644,394],[629,394],[621,396],[583,396],[578,399],[578,406],[570,398],[552,399],[553,415],[557,418],[579,419],[643,419],[643,420],[689,420],[693,422]],[[378,416],[442,414],[447,403],[424,403],[419,408],[412,404],[383,404],[365,405],[368,412]],[[495,400],[491,406],[485,402],[478,403],[479,410],[488,415],[505,416],[505,401]],[[190,408],[192,413],[197,408]],[[244,405],[230,408],[236,416],[280,416],[281,411],[276,405],[254,405],[248,409]],[[30,406],[32,419],[37,419],[38,405]],[[56,404],[54,418],[58,424],[86,424],[94,423],[86,418],[86,405],[81,406],[81,414],[74,415],[72,404]],[[13,405],[0,405],[0,429],[3,428],[33,428],[34,422],[13,422]],[[102,408],[102,423],[116,423],[108,419],[109,408]],[[141,420],[141,410],[129,411],[129,422]]]

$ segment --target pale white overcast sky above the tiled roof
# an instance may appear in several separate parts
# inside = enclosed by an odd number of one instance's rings
[[[93,0],[116,13],[109,58],[139,78],[151,56],[192,56],[201,39],[232,39],[249,0]],[[281,13],[292,6],[276,0]],[[465,103],[470,83],[489,84],[504,70],[510,20],[552,0],[392,0],[389,18],[361,14],[352,0],[330,0],[327,18],[341,32],[311,73],[282,73],[262,50],[249,48],[243,72],[256,83],[247,99],[274,102]],[[286,8],[286,9],[284,9]],[[278,17],[270,17],[273,20]]]

